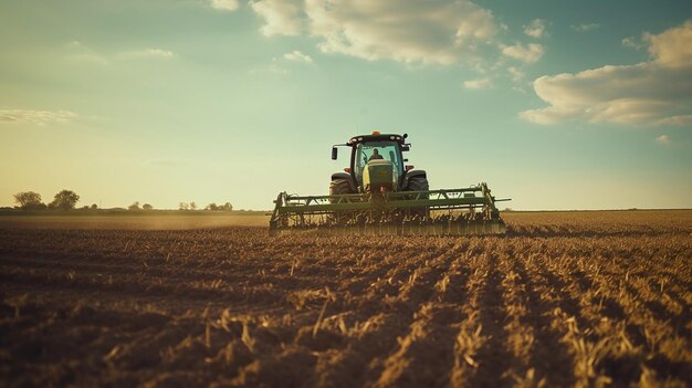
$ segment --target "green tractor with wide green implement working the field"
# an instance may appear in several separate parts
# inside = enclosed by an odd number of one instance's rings
[[[310,230],[332,234],[502,234],[506,231],[496,200],[485,183],[430,190],[426,171],[407,165],[407,135],[352,137],[350,164],[332,175],[328,196],[281,192],[270,220],[271,234]]]

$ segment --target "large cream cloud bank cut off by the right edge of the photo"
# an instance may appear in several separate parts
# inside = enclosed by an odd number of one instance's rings
[[[537,78],[534,90],[548,106],[522,112],[521,116],[538,124],[572,118],[593,123],[690,124],[692,21],[658,35],[646,34],[644,40],[651,61]]]

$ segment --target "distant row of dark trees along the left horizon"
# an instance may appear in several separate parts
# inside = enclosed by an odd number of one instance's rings
[[[48,205],[42,201],[41,195],[35,191],[22,191],[14,195],[14,202],[18,205],[17,208],[22,210],[73,210],[76,208],[78,201],[80,196],[76,192],[67,189],[64,189],[56,193],[53,197],[53,201]],[[96,203],[93,203],[92,206],[84,206],[82,209],[96,210],[98,209],[98,206],[96,206]],[[127,210],[146,211],[154,210],[154,207],[149,203],[144,203],[140,206],[137,201],[128,206]],[[178,206],[178,210],[198,210],[198,208],[195,202],[180,202]],[[203,210],[231,211],[233,210],[233,206],[230,202],[226,202],[223,205],[217,205],[214,202],[211,202],[207,205]]]

